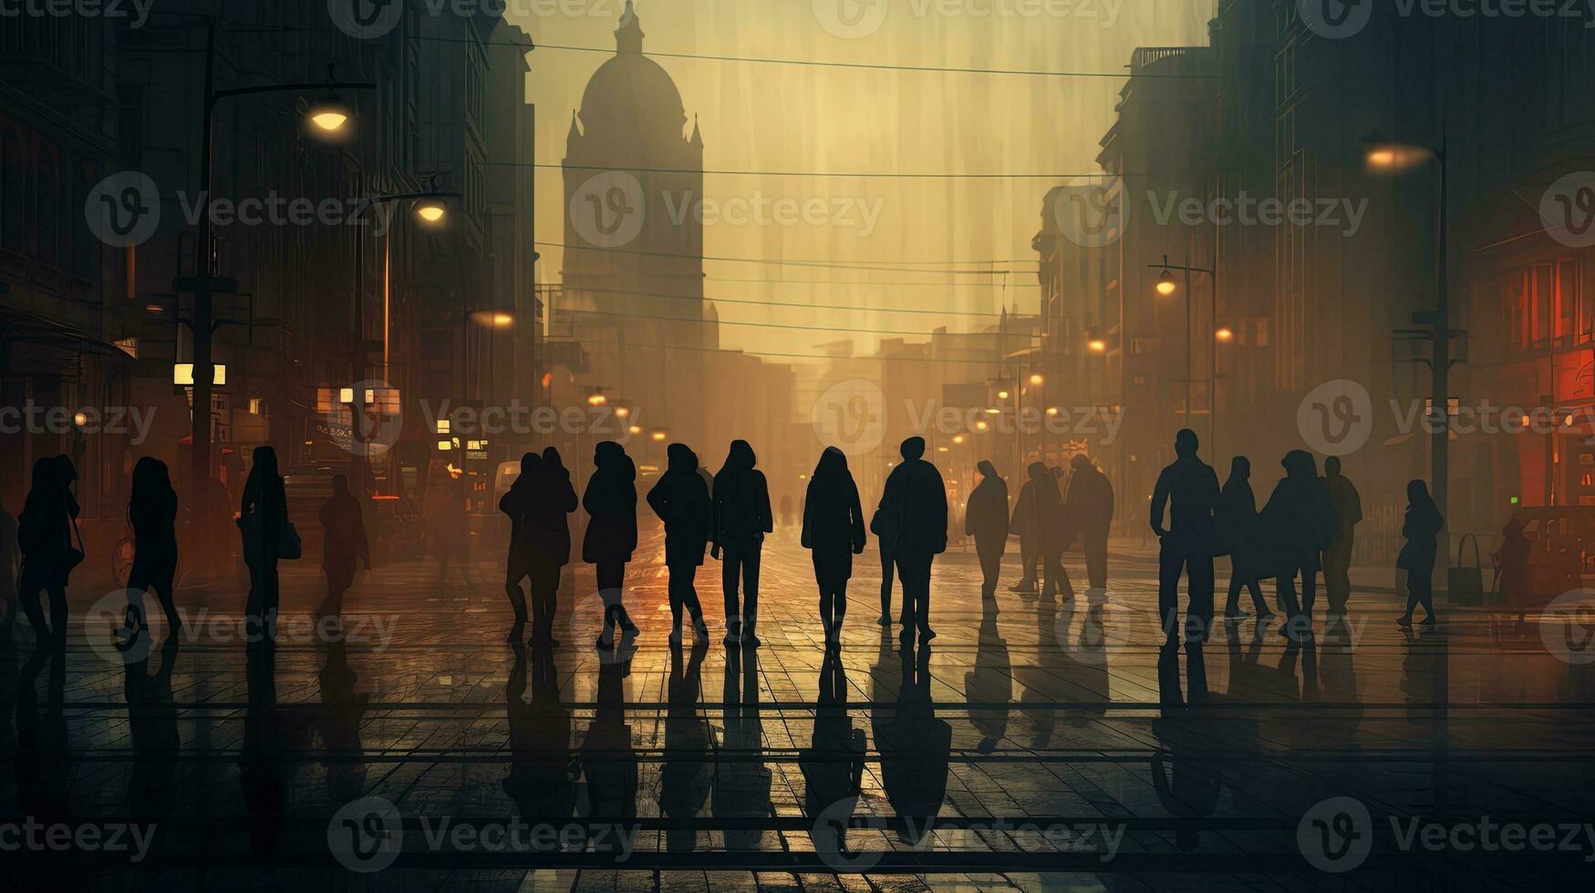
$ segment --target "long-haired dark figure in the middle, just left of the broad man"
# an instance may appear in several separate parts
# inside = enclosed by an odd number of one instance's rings
[[[853,555],[864,550],[864,510],[858,502],[853,474],[847,470],[847,456],[836,447],[826,447],[820,453],[820,462],[809,477],[801,542],[813,553],[825,644],[826,647],[841,644]]]

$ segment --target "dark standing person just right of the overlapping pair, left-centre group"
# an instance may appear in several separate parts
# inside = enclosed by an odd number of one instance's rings
[[[598,647],[612,647],[616,628],[636,635],[624,603],[625,563],[636,549],[636,466],[625,447],[605,440],[593,448],[593,474],[582,493],[582,509],[589,517],[582,561],[593,565],[603,600]]]

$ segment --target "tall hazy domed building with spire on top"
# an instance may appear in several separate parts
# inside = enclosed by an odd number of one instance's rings
[[[565,142],[565,314],[587,354],[584,387],[635,407],[671,440],[703,431],[703,139],[681,91],[643,56],[632,3],[616,54],[587,81]]]

